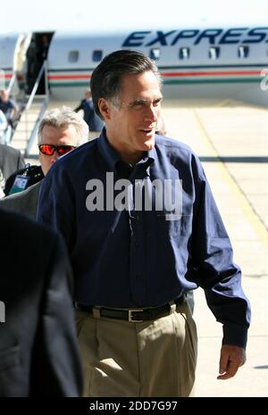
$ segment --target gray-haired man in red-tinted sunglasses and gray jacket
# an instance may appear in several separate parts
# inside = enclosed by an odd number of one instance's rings
[[[87,141],[88,124],[80,114],[71,111],[68,107],[46,112],[38,129],[39,161],[44,176],[59,157]],[[25,190],[4,197],[0,200],[0,206],[35,219],[42,180],[27,187],[27,179],[27,176],[25,178],[20,176],[17,186],[24,186]]]

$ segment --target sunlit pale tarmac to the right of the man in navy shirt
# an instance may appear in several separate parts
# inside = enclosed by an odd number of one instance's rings
[[[195,291],[198,397],[268,396],[268,109],[229,102],[210,107],[163,107],[167,136],[200,157],[242,269],[252,306],[247,362],[218,380],[222,324]]]

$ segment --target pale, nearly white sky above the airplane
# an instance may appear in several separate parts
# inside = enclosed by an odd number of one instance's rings
[[[266,26],[267,16],[267,0],[21,0],[4,3],[0,32]]]

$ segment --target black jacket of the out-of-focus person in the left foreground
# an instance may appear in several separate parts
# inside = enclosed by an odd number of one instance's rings
[[[63,241],[17,213],[0,210],[0,228],[0,396],[80,396]]]

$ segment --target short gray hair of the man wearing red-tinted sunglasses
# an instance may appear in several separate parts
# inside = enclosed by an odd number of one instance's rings
[[[54,108],[47,111],[44,118],[41,120],[38,128],[38,145],[42,143],[42,131],[44,127],[54,127],[54,129],[74,127],[76,130],[75,139],[76,142],[73,145],[81,145],[88,141],[88,124],[77,112],[71,110],[67,106],[63,108]]]

